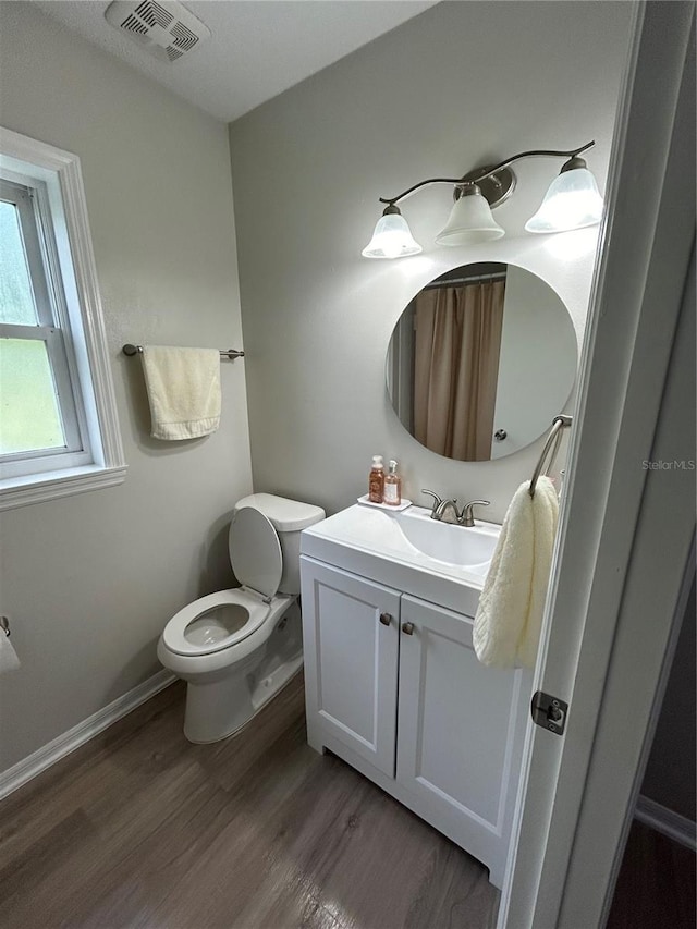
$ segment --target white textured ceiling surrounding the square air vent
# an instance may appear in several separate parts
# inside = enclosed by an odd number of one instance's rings
[[[160,62],[105,20],[101,0],[36,0],[94,45],[225,122],[333,64],[435,0],[192,0],[212,38]],[[135,5],[135,4],[134,4]]]

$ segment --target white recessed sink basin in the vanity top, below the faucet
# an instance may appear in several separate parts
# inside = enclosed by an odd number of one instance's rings
[[[428,558],[460,565],[485,575],[499,538],[500,527],[475,522],[470,528],[431,519],[430,510],[409,506],[396,515],[407,542]]]

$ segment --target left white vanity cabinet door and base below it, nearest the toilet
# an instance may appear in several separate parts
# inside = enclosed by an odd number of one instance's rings
[[[400,594],[305,555],[301,577],[308,742],[394,777]]]

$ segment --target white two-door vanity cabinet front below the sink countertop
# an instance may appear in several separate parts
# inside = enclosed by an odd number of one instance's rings
[[[500,888],[528,675],[481,665],[462,613],[307,555],[301,574],[309,744],[482,861]]]

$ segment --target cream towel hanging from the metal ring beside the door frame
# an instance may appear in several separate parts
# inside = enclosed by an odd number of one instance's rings
[[[534,668],[559,516],[549,477],[522,484],[503,519],[475,616],[473,640],[482,664]]]

